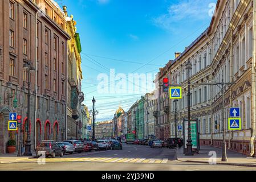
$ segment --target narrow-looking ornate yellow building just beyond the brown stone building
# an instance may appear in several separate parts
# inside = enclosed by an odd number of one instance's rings
[[[67,21],[67,32],[71,39],[68,40],[68,105],[67,105],[67,138],[75,139],[82,136],[81,104],[84,100],[81,92],[82,68],[81,56],[82,51],[79,34],[76,32],[76,22],[71,15],[68,17],[67,7],[63,7]]]

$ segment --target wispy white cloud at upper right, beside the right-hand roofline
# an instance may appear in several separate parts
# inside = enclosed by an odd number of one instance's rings
[[[194,22],[209,18],[209,4],[216,0],[181,0],[178,3],[169,5],[167,13],[153,18],[156,26],[170,30],[172,24],[180,21]]]

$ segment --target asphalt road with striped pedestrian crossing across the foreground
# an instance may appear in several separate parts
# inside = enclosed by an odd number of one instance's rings
[[[123,150],[92,151],[65,155],[63,158],[12,160],[0,164],[0,170],[42,171],[221,171],[256,170],[253,167],[184,163],[176,160],[174,150],[123,144]]]

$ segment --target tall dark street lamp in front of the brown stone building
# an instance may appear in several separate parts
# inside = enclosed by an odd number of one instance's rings
[[[31,81],[30,81],[30,71],[34,71],[35,68],[32,66],[32,61],[31,60],[26,60],[24,59],[25,63],[23,64],[23,69],[29,73],[29,80],[27,82],[28,85],[28,93],[27,93],[27,139],[25,143],[25,152],[24,156],[31,156],[31,139],[30,139],[30,131],[29,131],[29,123],[30,123],[30,91],[31,91]]]

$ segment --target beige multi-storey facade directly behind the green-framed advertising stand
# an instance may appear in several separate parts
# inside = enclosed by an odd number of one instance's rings
[[[190,82],[201,84],[212,81],[211,67],[212,63],[212,44],[207,36],[208,29],[203,32],[189,47],[176,56],[170,68],[172,72],[172,84],[187,84],[188,70],[185,64],[190,61],[192,69],[189,71]],[[183,125],[184,119],[188,119],[188,86],[182,86],[182,99],[171,100],[171,137],[175,137],[177,131],[178,136],[182,136],[182,132],[175,130],[175,109],[177,107],[177,126]],[[198,132],[210,135],[211,123],[211,99],[210,85],[192,85],[190,86],[190,115],[193,119],[198,119]],[[202,136],[203,137],[203,136]]]

